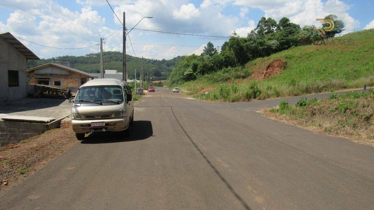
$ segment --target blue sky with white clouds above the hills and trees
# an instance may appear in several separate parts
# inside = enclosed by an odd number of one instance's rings
[[[246,37],[261,17],[279,21],[321,25],[316,18],[335,14],[346,25],[343,33],[374,28],[372,0],[108,0],[126,27],[173,33],[229,36],[236,31]],[[100,38],[104,51],[122,52],[122,27],[106,0],[1,0],[0,31],[53,49],[20,40],[39,58],[98,53]],[[120,29],[120,30],[118,30]],[[117,31],[118,30],[118,31]],[[116,32],[117,31],[117,32]],[[130,40],[132,46],[130,45]],[[126,53],[152,59],[199,55],[206,43],[221,46],[227,38],[199,37],[132,30]],[[160,45],[155,45],[160,44]],[[89,47],[95,45],[93,47]],[[161,46],[179,45],[179,46]],[[184,46],[180,46],[184,45]],[[89,59],[89,58],[88,58]]]

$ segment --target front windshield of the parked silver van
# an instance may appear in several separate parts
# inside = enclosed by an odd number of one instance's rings
[[[122,88],[119,85],[85,86],[79,89],[74,101],[123,101]],[[85,103],[85,102],[82,102]]]

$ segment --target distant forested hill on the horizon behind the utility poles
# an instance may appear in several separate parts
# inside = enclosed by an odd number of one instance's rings
[[[88,57],[86,57],[88,56]],[[99,73],[100,71],[100,56],[98,53],[87,54],[86,56],[59,56],[56,58],[40,59],[40,60],[28,60],[27,68],[37,67],[39,65],[47,64],[51,61],[63,61],[73,62],[74,68],[77,70],[85,71],[88,73]],[[96,57],[94,57],[96,56]],[[143,70],[144,74],[152,68],[156,68],[151,72],[154,72],[153,80],[166,80],[168,75],[176,67],[184,56],[177,56],[173,59],[146,59],[144,58]],[[121,52],[103,52],[104,69],[117,70],[122,72],[122,53]],[[148,61],[149,60],[149,61]],[[126,67],[129,78],[134,78],[135,68],[137,69],[137,78],[140,77],[141,72],[141,58],[137,58],[131,55],[126,55]]]

